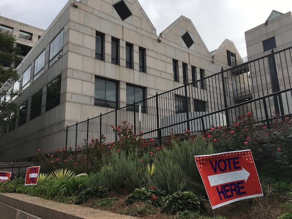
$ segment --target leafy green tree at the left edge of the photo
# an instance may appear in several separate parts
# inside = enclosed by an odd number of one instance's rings
[[[7,91],[7,89],[4,89],[5,82],[12,85],[19,78],[14,65],[20,63],[21,57],[18,56],[19,49],[14,46],[15,40],[14,36],[0,30],[0,97],[16,95],[13,90]],[[14,103],[0,102],[0,127],[2,127],[2,132],[6,130],[7,125],[12,126],[12,123],[14,123],[16,110],[17,106]]]

